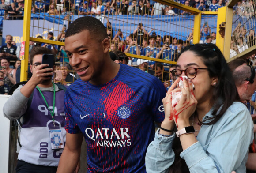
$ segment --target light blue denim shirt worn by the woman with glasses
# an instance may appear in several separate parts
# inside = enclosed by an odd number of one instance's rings
[[[205,123],[213,117],[212,110],[203,117]],[[246,106],[234,102],[215,124],[202,125],[196,137],[198,142],[181,152],[180,156],[191,173],[246,173],[253,127]],[[147,148],[147,173],[168,173],[174,162],[172,145],[175,134],[166,137],[158,135],[158,131]]]

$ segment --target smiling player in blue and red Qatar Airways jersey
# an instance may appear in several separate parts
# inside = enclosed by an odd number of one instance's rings
[[[64,98],[67,136],[58,173],[75,170],[83,137],[88,173],[146,173],[154,121],[164,118],[163,84],[111,60],[108,35],[96,18],[76,19],[65,37],[65,51],[80,79]]]

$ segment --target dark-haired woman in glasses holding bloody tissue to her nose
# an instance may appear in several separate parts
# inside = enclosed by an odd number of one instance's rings
[[[245,173],[253,123],[221,51],[189,45],[171,72],[177,80],[163,99],[165,120],[147,149],[147,173]],[[184,87],[176,88],[181,79]]]

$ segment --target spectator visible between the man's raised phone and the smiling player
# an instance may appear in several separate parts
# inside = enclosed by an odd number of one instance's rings
[[[54,81],[63,85],[70,85],[76,80],[75,75],[70,73],[71,70],[72,68],[68,63],[60,64],[60,68],[55,70],[56,77]]]

